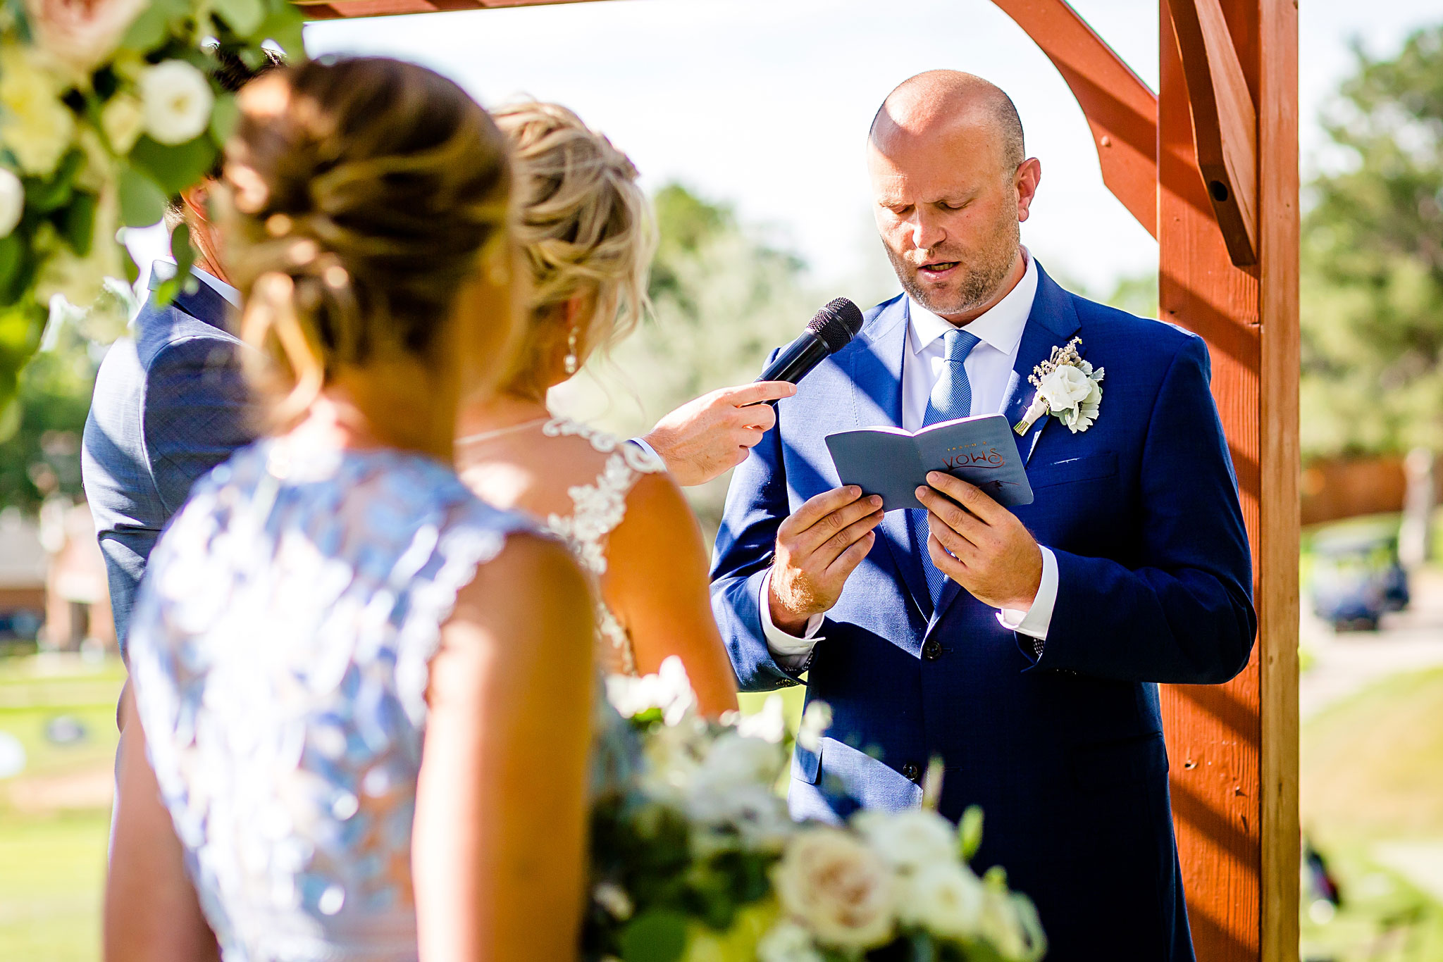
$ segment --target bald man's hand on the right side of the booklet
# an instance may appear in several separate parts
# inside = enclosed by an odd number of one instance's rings
[[[973,485],[929,472],[916,498],[932,529],[938,570],[994,609],[1026,612],[1042,586],[1042,548],[1017,516]]]

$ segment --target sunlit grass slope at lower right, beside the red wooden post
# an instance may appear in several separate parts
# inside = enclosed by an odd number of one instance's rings
[[[1329,708],[1300,747],[1303,829],[1343,897],[1326,923],[1304,904],[1303,959],[1443,961],[1443,864],[1437,878],[1427,871],[1443,842],[1443,671],[1397,675]],[[1403,873],[1397,851],[1424,857]]]

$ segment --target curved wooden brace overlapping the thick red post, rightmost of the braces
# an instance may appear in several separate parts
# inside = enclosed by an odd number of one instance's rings
[[[1167,0],[1198,167],[1237,267],[1258,262],[1257,108],[1218,0]]]

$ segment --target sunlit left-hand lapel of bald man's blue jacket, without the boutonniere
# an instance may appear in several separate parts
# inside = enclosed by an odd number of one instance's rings
[[[873,332],[859,336],[861,343],[851,352],[853,411],[857,427],[902,425],[902,355],[906,350],[906,297],[899,297],[877,314]],[[922,574],[922,560],[912,551],[912,537],[906,513],[889,511],[877,525],[882,541],[892,551],[892,561],[912,603],[922,617],[931,612],[931,596]]]

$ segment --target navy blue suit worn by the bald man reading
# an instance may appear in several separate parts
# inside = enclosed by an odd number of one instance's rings
[[[1033,897],[1049,962],[1190,959],[1156,682],[1222,682],[1248,661],[1237,479],[1203,340],[1039,274],[1009,421],[1055,345],[1081,336],[1107,369],[1089,430],[1046,417],[1017,438],[1036,500],[1016,513],[1058,558],[1042,655],[955,583],[932,610],[905,513],[889,512],[820,632],[808,698],[834,721],[817,753],[798,750],[791,805],[823,819],[915,805],[919,773],[939,757],[942,813],[983,806],[980,864],[1004,865]],[[827,434],[900,424],[906,327],[905,297],[867,312],[733,476],[713,610],[743,689],[798,682],[768,650],[759,614],[776,528],[838,486]]]

